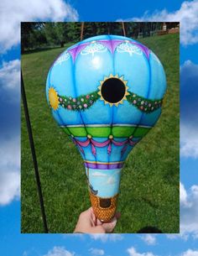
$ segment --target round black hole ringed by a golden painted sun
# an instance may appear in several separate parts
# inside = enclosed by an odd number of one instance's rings
[[[101,94],[105,101],[117,103],[122,100],[125,95],[126,87],[118,78],[109,78],[102,84]]]

